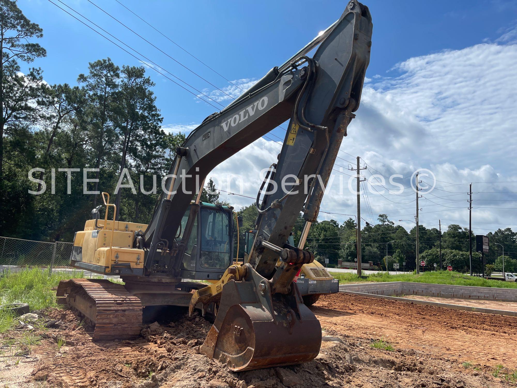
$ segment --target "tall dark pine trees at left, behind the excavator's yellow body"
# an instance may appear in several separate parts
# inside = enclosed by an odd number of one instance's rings
[[[99,59],[78,74],[75,85],[50,85],[41,68],[22,72],[21,63],[46,55],[36,42],[42,36],[16,1],[0,1],[0,226],[4,236],[71,241],[102,203],[99,195],[83,195],[83,188],[113,192],[127,170],[125,178],[151,190],[153,175],[168,172],[171,150],[185,136],[161,129],[155,84],[142,66]],[[39,170],[31,180],[34,168]],[[84,169],[93,180],[85,187]],[[151,195],[119,190],[111,200],[115,217],[147,222],[157,186]]]

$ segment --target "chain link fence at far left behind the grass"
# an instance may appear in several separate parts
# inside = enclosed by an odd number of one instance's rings
[[[22,240],[0,236],[0,270],[17,271],[25,266],[49,268],[67,267],[73,243]]]

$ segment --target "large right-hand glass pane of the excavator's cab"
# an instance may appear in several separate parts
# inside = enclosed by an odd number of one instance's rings
[[[230,266],[230,216],[219,209],[201,209],[200,264],[205,268]]]

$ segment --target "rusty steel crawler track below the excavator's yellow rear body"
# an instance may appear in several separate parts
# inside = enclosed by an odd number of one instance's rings
[[[67,304],[94,325],[94,340],[130,339],[140,335],[142,303],[123,285],[105,279],[62,280],[59,304]],[[60,297],[60,298],[59,298]]]

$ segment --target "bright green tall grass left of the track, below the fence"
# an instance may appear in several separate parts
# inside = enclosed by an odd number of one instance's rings
[[[28,303],[31,311],[56,306],[56,292],[60,280],[82,278],[83,271],[55,272],[50,277],[40,268],[24,268],[0,276],[0,304]],[[9,330],[16,319],[0,311],[0,333]]]

